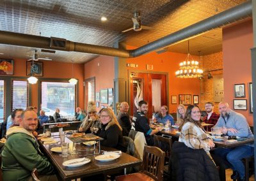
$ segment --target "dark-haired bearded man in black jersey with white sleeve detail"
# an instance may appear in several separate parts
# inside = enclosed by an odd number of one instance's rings
[[[153,135],[162,130],[162,127],[156,127],[148,124],[148,119],[145,117],[145,114],[148,113],[148,103],[146,101],[140,101],[138,103],[138,111],[132,117],[132,122],[134,123],[135,131],[140,131],[144,133],[147,145],[154,145],[154,137]]]

